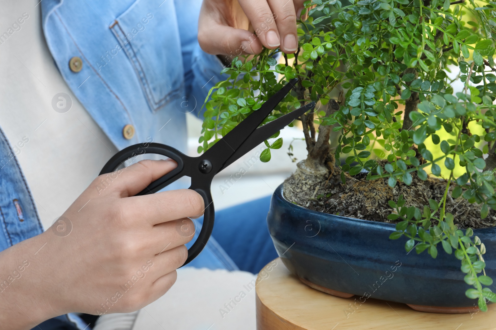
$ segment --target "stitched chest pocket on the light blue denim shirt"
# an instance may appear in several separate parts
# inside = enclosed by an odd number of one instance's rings
[[[182,94],[184,80],[174,1],[162,1],[137,0],[111,25],[152,111]]]

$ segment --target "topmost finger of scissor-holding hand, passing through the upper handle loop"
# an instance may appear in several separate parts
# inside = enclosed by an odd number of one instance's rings
[[[93,184],[97,186],[99,195],[117,191],[120,197],[133,196],[177,166],[172,159],[141,160],[124,169],[101,175]]]

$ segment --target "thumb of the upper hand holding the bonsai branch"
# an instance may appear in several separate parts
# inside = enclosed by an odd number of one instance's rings
[[[227,55],[231,59],[262,51],[262,44],[256,34],[218,23],[200,27],[198,43],[201,49],[209,54]]]

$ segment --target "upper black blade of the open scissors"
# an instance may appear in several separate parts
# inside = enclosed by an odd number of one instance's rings
[[[240,145],[256,130],[263,122],[265,117],[279,104],[279,102],[293,89],[298,81],[297,78],[290,80],[281,90],[271,96],[260,109],[251,113],[245,120],[238,124],[231,132],[226,134],[221,140],[217,141],[203,156],[205,158],[215,160],[217,164],[214,169],[225,163],[227,159],[240,147]],[[219,167],[217,167],[219,168]]]

